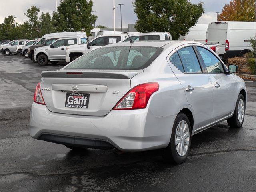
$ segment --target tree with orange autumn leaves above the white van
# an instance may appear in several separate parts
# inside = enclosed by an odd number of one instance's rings
[[[255,0],[232,0],[225,4],[219,21],[255,21]]]

